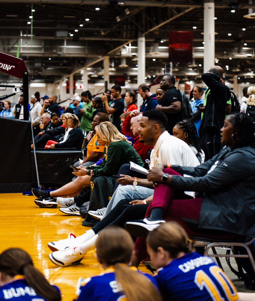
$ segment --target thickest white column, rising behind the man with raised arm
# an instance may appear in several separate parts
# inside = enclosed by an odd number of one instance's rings
[[[204,73],[215,65],[214,0],[204,0]]]

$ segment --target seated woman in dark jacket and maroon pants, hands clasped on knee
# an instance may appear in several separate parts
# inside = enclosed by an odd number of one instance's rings
[[[243,113],[229,115],[221,129],[221,143],[227,147],[197,167],[174,165],[166,168],[161,165],[150,170],[148,180],[156,185],[153,200],[164,198],[168,204],[168,209],[161,215],[161,211],[155,214],[149,205],[145,216],[153,216],[154,228],[160,220],[175,220],[189,235],[230,239],[255,236],[252,120]],[[192,177],[183,177],[183,174]],[[183,191],[197,191],[203,197],[183,199]],[[147,219],[128,224],[133,225],[135,231],[152,230]],[[139,240],[136,251],[140,259],[143,254],[139,253]]]

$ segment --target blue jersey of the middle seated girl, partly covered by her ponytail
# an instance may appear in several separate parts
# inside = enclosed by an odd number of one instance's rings
[[[137,268],[131,267],[137,271]],[[149,274],[141,273],[157,287],[155,278]],[[158,287],[157,287],[158,288]],[[102,274],[87,278],[85,283],[80,286],[80,294],[77,301],[126,301],[122,288],[118,286],[115,279],[114,268],[107,268]]]

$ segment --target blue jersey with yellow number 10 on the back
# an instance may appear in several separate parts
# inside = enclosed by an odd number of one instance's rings
[[[238,301],[234,284],[214,260],[198,253],[174,259],[155,276],[164,300]]]

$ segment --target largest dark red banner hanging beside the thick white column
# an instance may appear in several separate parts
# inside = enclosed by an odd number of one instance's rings
[[[192,62],[193,32],[169,31],[169,61],[173,63]]]

